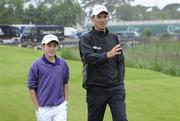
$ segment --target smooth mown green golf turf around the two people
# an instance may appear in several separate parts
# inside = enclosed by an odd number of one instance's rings
[[[60,53],[58,53],[59,55]],[[41,51],[0,46],[0,121],[35,121],[26,86],[27,73]],[[70,97],[68,121],[86,121],[82,64],[68,61]],[[159,72],[126,68],[126,104],[129,121],[179,121],[180,78]],[[107,108],[104,121],[111,121]]]

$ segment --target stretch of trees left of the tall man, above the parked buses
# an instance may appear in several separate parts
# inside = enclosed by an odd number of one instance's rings
[[[83,19],[76,0],[0,0],[0,24],[76,25]]]

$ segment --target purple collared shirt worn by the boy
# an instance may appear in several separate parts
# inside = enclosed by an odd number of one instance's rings
[[[39,106],[56,106],[64,102],[64,84],[68,80],[67,63],[57,57],[55,63],[51,63],[43,55],[29,70],[28,88],[35,90]]]

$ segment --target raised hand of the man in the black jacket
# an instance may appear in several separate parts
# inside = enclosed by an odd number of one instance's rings
[[[107,52],[107,58],[113,58],[114,56],[121,54],[121,50],[120,44],[114,46],[111,51]]]

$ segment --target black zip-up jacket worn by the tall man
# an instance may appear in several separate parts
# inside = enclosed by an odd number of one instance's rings
[[[110,33],[92,30],[84,34],[79,42],[80,55],[83,62],[83,87],[90,86],[113,87],[124,84],[124,55],[112,59],[107,58],[107,52],[119,44],[118,37]]]

